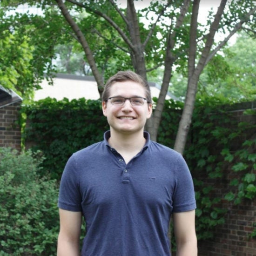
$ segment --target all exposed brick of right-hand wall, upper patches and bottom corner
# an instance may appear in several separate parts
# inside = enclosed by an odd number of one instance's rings
[[[254,105],[248,106],[251,103]],[[243,115],[243,109],[255,109],[256,102],[251,103],[246,103],[246,106],[240,104],[241,106],[236,106],[239,110],[229,109],[228,111],[233,113],[237,121],[256,124],[256,115]],[[251,130],[244,136],[255,138],[256,131]],[[237,143],[242,143],[242,141],[237,141]],[[254,153],[256,153],[256,148]],[[224,168],[226,171],[222,179],[207,180],[207,185],[215,188],[213,197],[222,197],[222,207],[228,209],[228,213],[225,215],[225,223],[216,227],[214,238],[198,243],[198,256],[256,256],[256,238],[249,237],[252,230],[256,228],[253,227],[256,224],[256,199],[254,201],[244,200],[239,205],[232,205],[224,200],[224,195],[231,190],[229,182],[234,178],[232,177],[234,172],[228,166]],[[202,176],[201,179],[206,180]]]

